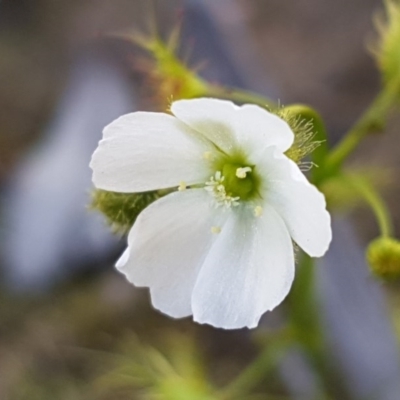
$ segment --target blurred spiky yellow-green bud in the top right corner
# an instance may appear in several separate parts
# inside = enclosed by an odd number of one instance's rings
[[[386,0],[385,15],[378,15],[379,40],[371,47],[386,84],[400,80],[400,1]]]

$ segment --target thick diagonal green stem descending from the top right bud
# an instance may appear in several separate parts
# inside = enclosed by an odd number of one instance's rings
[[[367,134],[379,131],[384,127],[387,116],[398,99],[398,95],[399,84],[384,87],[367,111],[328,156],[327,167],[330,171],[339,169],[343,161],[356,149]]]

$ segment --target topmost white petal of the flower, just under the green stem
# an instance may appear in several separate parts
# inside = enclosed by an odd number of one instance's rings
[[[228,153],[244,149],[251,157],[269,146],[285,151],[294,140],[285,121],[256,105],[202,98],[175,101],[171,111]]]

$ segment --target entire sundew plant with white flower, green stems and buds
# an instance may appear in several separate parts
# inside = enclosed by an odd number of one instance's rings
[[[208,382],[193,343],[180,341],[185,368],[176,354],[143,347],[145,361],[124,366],[140,398],[278,398],[257,388],[293,347],[318,377],[316,399],[350,398],[327,356],[315,263],[329,249],[331,215],[351,199],[367,205],[379,226],[366,252],[371,276],[400,277],[400,242],[376,179],[345,165],[400,111],[398,1],[385,2],[377,28],[370,48],[381,90],[333,147],[317,110],[201,78],[178,56],[178,31],[169,40],[121,35],[148,53],[146,87],[155,107],[110,121],[90,163],[93,208],[127,235],[116,268],[147,288],[159,312],[252,329],[261,343],[254,360],[222,385]],[[260,318],[277,307],[285,322],[263,334]]]

